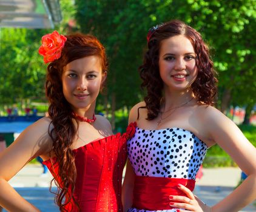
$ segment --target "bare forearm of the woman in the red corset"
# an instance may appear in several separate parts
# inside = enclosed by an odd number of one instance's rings
[[[37,212],[38,208],[22,198],[4,179],[0,179],[0,205],[10,212]]]

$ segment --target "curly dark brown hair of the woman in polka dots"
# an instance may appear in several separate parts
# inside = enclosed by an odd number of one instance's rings
[[[153,30],[153,31],[152,31]],[[198,68],[197,79],[191,85],[198,102],[213,105],[217,93],[217,78],[213,62],[209,55],[209,48],[201,38],[200,33],[189,25],[179,20],[172,20],[157,27],[153,27],[147,36],[148,50],[144,55],[143,64],[139,67],[140,77],[143,80],[141,87],[146,88],[144,98],[147,108],[147,120],[157,118],[160,113],[161,99],[163,96],[163,80],[159,73],[159,52],[161,42],[172,36],[184,35],[194,47],[196,65]]]

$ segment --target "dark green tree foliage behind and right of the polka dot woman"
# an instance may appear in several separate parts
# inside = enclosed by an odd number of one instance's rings
[[[196,28],[211,47],[219,73],[219,105],[255,104],[256,2],[205,0],[76,0],[81,31],[93,33],[107,48],[107,96],[114,109],[140,101],[138,66],[152,25],[181,19]],[[110,99],[112,98],[112,101]],[[113,101],[113,98],[115,98]]]

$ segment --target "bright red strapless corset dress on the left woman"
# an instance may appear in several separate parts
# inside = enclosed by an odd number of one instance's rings
[[[81,211],[123,211],[121,183],[127,157],[126,141],[133,136],[133,128],[129,125],[123,136],[118,133],[73,150],[77,170],[74,197]],[[54,176],[50,160],[44,164]],[[54,170],[58,173],[57,163]],[[66,208],[79,211],[72,202]]]

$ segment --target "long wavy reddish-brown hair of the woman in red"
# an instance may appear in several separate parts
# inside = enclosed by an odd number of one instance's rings
[[[56,156],[58,173],[54,173],[55,184],[58,185],[55,202],[61,211],[67,211],[65,205],[70,201],[78,203],[73,197],[76,182],[75,158],[71,150],[75,139],[78,122],[74,123],[72,108],[64,98],[62,92],[62,72],[69,62],[87,56],[98,56],[101,60],[102,70],[107,71],[106,51],[103,45],[92,35],[76,33],[66,36],[61,58],[51,62],[47,67],[45,93],[49,98],[49,116],[52,119],[49,126],[49,135],[52,138],[52,153]],[[53,162],[52,162],[53,165]],[[54,168],[53,168],[54,170]],[[65,199],[65,202],[63,200]]]

